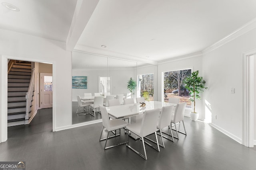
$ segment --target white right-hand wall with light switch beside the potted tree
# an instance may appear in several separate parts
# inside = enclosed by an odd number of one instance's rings
[[[217,115],[217,119],[212,119],[212,124],[240,143],[243,104],[242,53],[256,48],[255,37],[256,29],[253,29],[206,53],[202,58],[203,76],[208,86],[204,99],[210,103],[212,115]],[[230,94],[230,88],[235,88],[235,94]]]

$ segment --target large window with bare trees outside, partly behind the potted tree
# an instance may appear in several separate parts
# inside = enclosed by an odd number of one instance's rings
[[[168,102],[169,98],[179,98],[180,103],[187,102],[187,106],[191,108],[189,101],[189,92],[183,84],[183,80],[191,75],[191,69],[174,70],[163,72],[164,74],[164,102]]]

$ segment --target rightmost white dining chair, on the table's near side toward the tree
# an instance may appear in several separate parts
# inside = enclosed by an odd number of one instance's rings
[[[172,115],[172,120],[171,120],[171,128],[172,127],[175,127],[175,129],[172,129],[172,130],[175,130],[176,131],[176,134],[177,134],[177,139],[179,139],[179,136],[178,136],[178,132],[184,134],[184,135],[187,135],[186,133],[186,129],[185,129],[185,125],[184,125],[184,113],[185,113],[185,107],[186,107],[187,103],[186,102],[183,102],[183,103],[179,103],[176,105],[176,108],[175,108],[175,111],[174,111],[174,114]],[[180,123],[182,121],[182,124],[183,124],[183,127],[184,127],[184,131],[185,132],[182,132],[182,131],[178,131],[177,130],[177,127],[176,127],[176,123]],[[172,125],[172,123],[174,125]]]

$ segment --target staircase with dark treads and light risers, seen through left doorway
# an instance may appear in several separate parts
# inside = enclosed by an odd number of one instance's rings
[[[8,72],[8,127],[24,125],[29,118],[26,116],[26,93],[31,79],[31,62],[12,62]]]

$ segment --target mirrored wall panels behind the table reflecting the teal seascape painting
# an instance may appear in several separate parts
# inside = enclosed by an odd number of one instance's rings
[[[127,82],[130,78],[136,80],[137,65],[138,63],[135,61],[73,51],[72,124],[101,119],[99,113],[96,113],[95,117],[82,113],[84,110],[83,108],[81,110],[78,108],[77,96],[83,98],[84,93],[92,94],[92,96],[96,94],[117,95],[127,93],[129,98],[130,92],[127,89]],[[76,88],[77,80],[80,81],[80,78],[82,79],[82,84],[79,84],[81,88]],[[81,113],[76,113],[77,111]]]

